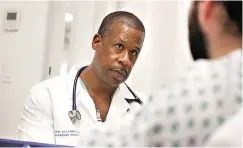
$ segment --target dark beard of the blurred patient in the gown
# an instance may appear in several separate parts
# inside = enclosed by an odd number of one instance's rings
[[[204,34],[202,33],[202,29],[200,27],[198,21],[198,3],[194,3],[195,7],[191,12],[191,17],[189,20],[189,44],[191,54],[194,60],[198,59],[208,59],[208,50],[206,45],[206,39]]]

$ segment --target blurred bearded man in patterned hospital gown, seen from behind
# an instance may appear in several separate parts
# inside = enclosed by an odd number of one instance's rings
[[[240,110],[242,1],[192,2],[189,40],[197,61],[185,76],[152,93],[132,123],[94,129],[80,146],[202,146]]]

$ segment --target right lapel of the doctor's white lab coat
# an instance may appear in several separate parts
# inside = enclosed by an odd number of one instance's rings
[[[120,84],[112,97],[111,106],[106,118],[107,122],[119,119],[127,112],[130,107],[130,105],[125,100],[125,97],[127,96],[130,96],[129,91],[127,91],[124,84]]]

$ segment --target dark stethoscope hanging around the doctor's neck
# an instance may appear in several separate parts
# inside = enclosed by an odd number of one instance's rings
[[[72,100],[73,100],[73,104],[72,104],[72,110],[68,112],[68,116],[71,119],[72,123],[74,124],[77,119],[81,120],[81,113],[77,110],[77,105],[76,105],[76,86],[77,86],[77,82],[78,82],[78,78],[81,74],[81,72],[86,68],[82,67],[78,70],[75,79],[74,79],[74,83],[73,83],[73,96],[72,96]],[[124,98],[129,104],[132,102],[137,102],[140,105],[143,104],[143,101],[141,99],[139,99],[139,97],[132,91],[132,89],[124,82],[124,84],[126,85],[127,89],[131,92],[131,94],[134,96],[135,99],[127,99]]]

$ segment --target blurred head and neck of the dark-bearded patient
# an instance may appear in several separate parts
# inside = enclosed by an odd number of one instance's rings
[[[195,60],[218,58],[242,48],[242,1],[193,2],[189,41]]]

